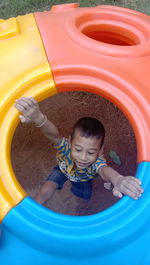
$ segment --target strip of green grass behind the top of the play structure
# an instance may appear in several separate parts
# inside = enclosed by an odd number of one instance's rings
[[[71,3],[62,0],[0,0],[0,18],[49,10],[52,5]],[[78,0],[80,6],[117,5],[150,14],[149,0]]]

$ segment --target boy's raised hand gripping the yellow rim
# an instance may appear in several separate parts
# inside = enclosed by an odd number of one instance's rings
[[[32,97],[22,97],[16,100],[15,107],[22,113],[19,118],[23,123],[34,122],[38,125],[44,118],[37,101]]]

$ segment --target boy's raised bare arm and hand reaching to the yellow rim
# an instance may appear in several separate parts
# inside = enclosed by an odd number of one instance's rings
[[[35,123],[35,126],[39,127],[48,139],[58,143],[60,136],[57,127],[40,111],[39,104],[34,98],[22,97],[16,100],[15,107],[21,112],[19,115],[21,122]]]

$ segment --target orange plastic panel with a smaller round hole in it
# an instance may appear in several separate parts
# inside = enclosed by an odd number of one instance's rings
[[[134,129],[138,162],[150,161],[150,17],[111,6],[35,17],[58,91],[115,103]]]

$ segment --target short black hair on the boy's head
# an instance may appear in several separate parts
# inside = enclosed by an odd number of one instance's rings
[[[73,126],[71,139],[73,139],[77,129],[84,137],[96,137],[97,139],[101,138],[101,146],[103,145],[105,138],[105,128],[103,124],[96,118],[83,117],[79,119]]]

